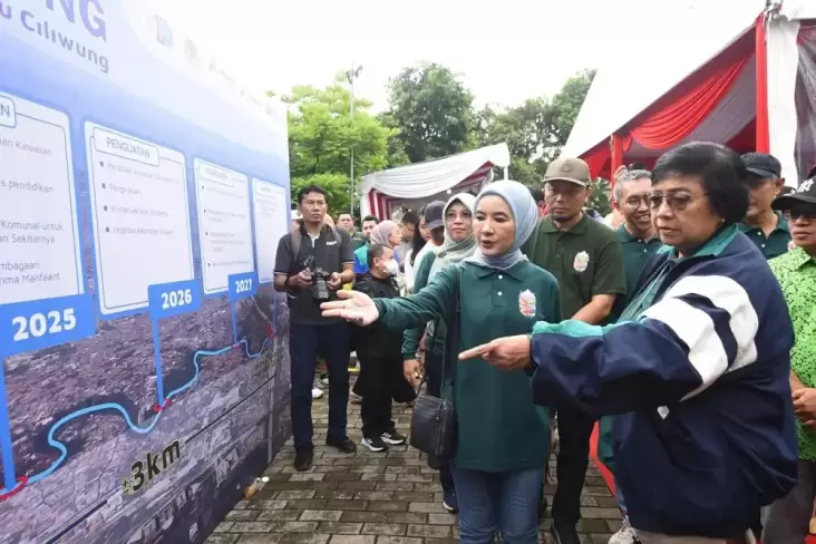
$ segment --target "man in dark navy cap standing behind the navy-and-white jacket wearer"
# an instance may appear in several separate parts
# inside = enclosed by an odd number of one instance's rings
[[[781,164],[767,153],[746,153],[742,162],[748,169],[748,178],[744,182],[750,193],[750,204],[739,230],[757,245],[765,259],[774,259],[788,251],[790,243],[787,221],[770,207],[785,185]]]

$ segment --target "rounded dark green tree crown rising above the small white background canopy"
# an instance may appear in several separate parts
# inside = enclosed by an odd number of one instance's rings
[[[388,82],[388,103],[396,139],[411,163],[467,148],[473,96],[450,69],[433,62],[402,69]]]

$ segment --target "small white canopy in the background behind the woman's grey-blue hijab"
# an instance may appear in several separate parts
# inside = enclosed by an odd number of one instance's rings
[[[447,200],[455,191],[478,191],[492,179],[494,166],[509,166],[507,144],[375,172],[362,178],[360,215],[388,218],[400,206],[419,207],[434,200]]]

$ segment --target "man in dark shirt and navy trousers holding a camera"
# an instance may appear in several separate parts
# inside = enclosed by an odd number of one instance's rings
[[[292,368],[292,435],[294,468],[312,466],[312,380],[318,352],[329,367],[329,431],[326,444],[343,453],[356,450],[346,434],[349,400],[349,328],[341,319],[326,319],[320,303],[336,298],[354,279],[349,233],[324,223],[322,187],[298,192],[301,227],[281,237],[275,258],[276,291],[289,295],[289,357]]]

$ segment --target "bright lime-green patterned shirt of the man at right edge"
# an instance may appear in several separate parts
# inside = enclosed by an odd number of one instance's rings
[[[770,261],[770,270],[785,293],[796,341],[790,370],[805,387],[816,387],[816,262],[802,247]],[[816,434],[796,421],[799,458],[816,460]]]

